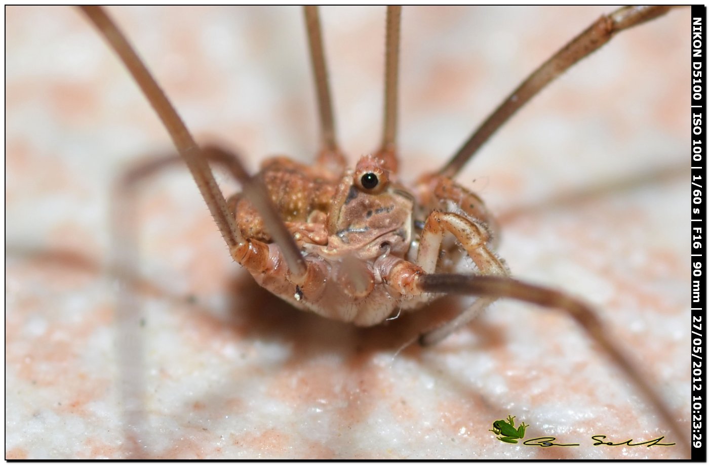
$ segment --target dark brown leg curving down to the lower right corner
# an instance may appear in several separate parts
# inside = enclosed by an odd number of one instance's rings
[[[417,278],[413,288],[420,292],[466,294],[481,298],[513,298],[518,301],[535,303],[543,308],[560,310],[574,318],[586,335],[603,349],[611,362],[620,367],[620,370],[654,406],[662,423],[671,427],[674,434],[671,439],[679,442],[688,451],[687,431],[680,427],[657,389],[640,373],[637,364],[632,362],[620,349],[608,328],[603,325],[603,322],[588,304],[553,289],[501,276],[420,274]]]

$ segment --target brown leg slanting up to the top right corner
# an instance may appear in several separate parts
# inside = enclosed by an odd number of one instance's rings
[[[566,69],[598,50],[615,33],[651,21],[669,11],[669,6],[625,6],[595,23],[566,44],[527,77],[500,106],[477,128],[439,174],[454,177],[479,148],[527,101],[544,89]]]

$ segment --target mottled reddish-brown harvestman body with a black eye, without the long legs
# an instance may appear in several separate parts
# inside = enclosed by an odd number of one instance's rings
[[[325,167],[269,159],[259,176],[296,238],[309,277],[304,284],[291,279],[261,216],[240,195],[231,198],[230,205],[235,208],[238,228],[250,241],[249,250],[259,252],[235,259],[260,285],[296,308],[355,325],[376,325],[400,308],[418,308],[430,301],[431,294],[412,292],[406,279],[392,282],[395,269],[396,276],[421,270],[417,252],[423,231],[415,224],[423,225],[428,212],[448,203],[464,206],[458,209],[462,223],[491,224],[492,218],[477,196],[450,179],[432,177],[421,182],[414,195],[392,182],[392,173],[382,165],[379,159],[366,156],[354,171],[333,174]],[[367,189],[361,179],[370,172],[376,173],[379,182]],[[435,271],[450,273],[465,251],[447,247],[444,254],[442,259],[435,254]],[[494,257],[489,250],[486,255]],[[499,270],[506,273],[503,267]]]

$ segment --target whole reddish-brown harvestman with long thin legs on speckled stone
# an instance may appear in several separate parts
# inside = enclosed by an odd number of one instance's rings
[[[220,147],[198,147],[106,13],[99,7],[84,7],[160,116],[233,259],[250,271],[261,286],[293,306],[356,325],[381,323],[396,309],[418,308],[438,293],[479,296],[456,318],[421,335],[422,345],[439,342],[498,298],[515,298],[562,310],[620,366],[654,405],[663,422],[671,425],[673,439],[686,446],[686,437],[669,408],[608,337],[586,303],[559,291],[510,279],[506,265],[493,252],[493,218],[478,196],[452,181],[479,147],[546,84],[614,33],[667,10],[629,7],[593,23],[515,89],[445,167],[421,177],[409,191],[396,179],[400,7],[389,7],[387,11],[384,130],[379,150],[361,157],[354,169],[347,169],[335,137],[318,13],[314,7],[306,7],[322,147],[312,167],[276,158],[264,163],[259,177],[250,177],[231,152]],[[173,158],[130,172],[127,183]],[[242,194],[227,201],[208,160],[227,167],[242,184]],[[445,240],[445,232],[455,237],[464,252],[456,243]],[[119,257],[123,258],[117,264],[118,272],[128,279],[130,257],[123,253]],[[470,274],[456,272],[464,257],[473,260],[479,274],[473,274],[473,270],[469,270]],[[130,307],[126,302],[120,305],[126,313]],[[131,322],[130,315],[123,319],[124,325]]]

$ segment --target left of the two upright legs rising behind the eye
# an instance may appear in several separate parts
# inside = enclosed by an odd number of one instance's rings
[[[320,30],[320,16],[317,6],[303,6],[308,30],[308,47],[310,48],[313,75],[315,76],[316,94],[318,96],[318,113],[320,115],[320,155],[318,164],[324,164],[329,169],[342,171],[345,168],[345,157],[337,146],[335,134],[335,117],[333,103],[328,84],[328,67],[325,64],[323,36]],[[339,174],[339,173],[338,173]]]

